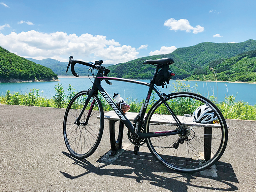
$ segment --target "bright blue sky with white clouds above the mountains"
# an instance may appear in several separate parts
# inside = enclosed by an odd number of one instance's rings
[[[256,1],[0,0],[0,46],[116,64],[201,42],[256,39]]]

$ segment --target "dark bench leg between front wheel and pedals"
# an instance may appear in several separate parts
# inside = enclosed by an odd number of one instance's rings
[[[122,141],[123,141],[123,133],[124,133],[124,123],[119,121],[119,132],[118,138],[116,140],[115,136],[115,123],[117,120],[109,120],[109,138],[110,138],[110,146],[111,146],[111,153],[110,156],[114,156],[117,153],[117,150],[122,148]]]

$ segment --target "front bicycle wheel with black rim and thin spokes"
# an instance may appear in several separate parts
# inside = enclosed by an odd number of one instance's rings
[[[79,123],[75,123],[85,105],[88,91],[77,93],[66,109],[63,134],[66,147],[77,159],[84,159],[97,149],[104,128],[103,108],[99,98],[93,95],[82,114]]]

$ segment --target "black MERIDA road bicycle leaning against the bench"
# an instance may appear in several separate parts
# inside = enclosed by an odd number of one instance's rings
[[[147,143],[152,155],[163,165],[179,172],[196,172],[212,166],[220,159],[227,145],[226,121],[217,106],[209,99],[190,92],[177,92],[166,95],[155,86],[159,69],[174,63],[171,58],[147,60],[143,64],[156,66],[150,83],[125,78],[108,77],[109,69],[101,66],[103,61],[83,62],[70,56],[68,68],[74,76],[76,63],[98,70],[92,88],[77,93],[67,106],[63,134],[71,155],[77,159],[89,157],[97,149],[104,128],[103,108],[100,93],[128,128],[128,137],[138,152],[139,146]],[[130,122],[119,106],[102,88],[101,81],[122,81],[149,87],[145,103],[142,104],[134,122]],[[152,91],[159,96],[146,114]],[[217,116],[218,123],[196,123],[193,112],[207,105]],[[145,117],[146,116],[146,117]],[[206,153],[208,154],[206,156]]]

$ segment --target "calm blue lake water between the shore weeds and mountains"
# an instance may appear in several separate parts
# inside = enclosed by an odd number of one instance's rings
[[[31,89],[39,89],[40,95],[46,98],[53,97],[55,92],[56,85],[62,84],[64,90],[66,91],[69,87],[69,84],[75,89],[75,91],[88,90],[92,86],[92,82],[89,78],[83,77],[59,77],[59,82],[30,82],[30,83],[0,83],[0,94],[5,95],[6,91],[10,92],[20,92],[22,94],[29,93]],[[150,82],[150,80],[138,80],[142,82]],[[191,90],[194,92],[199,92],[202,95],[217,95],[217,86],[218,86],[218,101],[223,101],[224,97],[227,95],[236,96],[236,101],[243,100],[248,102],[251,105],[256,104],[256,84],[248,83],[227,83],[227,82],[201,82],[201,81],[181,81],[183,83],[189,84]],[[114,93],[119,93],[121,97],[125,100],[135,99],[138,101],[146,98],[148,87],[143,85],[137,85],[126,82],[113,81],[113,84],[110,86],[102,81],[102,87],[107,91],[107,93],[112,96]],[[175,81],[170,81],[168,89],[159,88],[162,92],[166,94],[173,91],[173,84],[176,84]],[[195,87],[197,85],[196,89]],[[67,91],[66,91],[67,94]],[[128,99],[127,99],[128,98]]]

